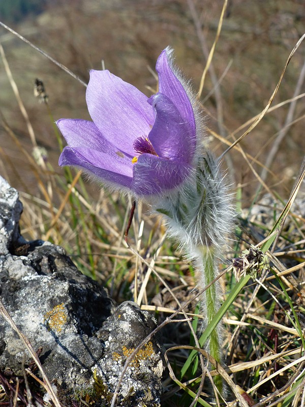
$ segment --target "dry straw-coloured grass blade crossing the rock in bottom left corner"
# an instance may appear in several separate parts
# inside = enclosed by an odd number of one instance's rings
[[[22,342],[24,343],[25,347],[27,348],[29,354],[32,356],[34,362],[36,363],[36,365],[38,366],[41,375],[43,377],[43,380],[45,382],[45,386],[46,386],[46,390],[49,393],[55,407],[62,407],[62,405],[60,404],[53,388],[52,385],[46,375],[46,373],[43,370],[43,367],[40,363],[39,358],[37,357],[36,352],[33,349],[33,346],[31,345],[31,343],[29,342],[29,340],[25,337],[25,335],[19,330],[19,328],[16,326],[16,324],[14,323],[13,319],[11,318],[10,314],[8,313],[8,311],[6,310],[2,300],[0,299],[0,313],[2,314],[2,316],[6,319],[6,321],[10,324],[10,326],[12,327],[12,329],[17,332],[18,336],[20,337],[20,339],[22,340]]]

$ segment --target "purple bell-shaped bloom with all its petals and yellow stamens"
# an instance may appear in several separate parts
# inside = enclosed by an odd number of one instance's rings
[[[135,195],[163,194],[192,169],[196,125],[192,103],[168,49],[158,58],[159,92],[147,98],[109,71],[90,71],[86,91],[93,122],[60,119],[68,142],[59,165],[73,165]]]

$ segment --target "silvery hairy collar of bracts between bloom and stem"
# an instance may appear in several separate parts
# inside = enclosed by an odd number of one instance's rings
[[[220,250],[234,219],[219,162],[206,150],[196,159],[197,165],[184,184],[155,204],[155,210],[165,215],[170,234],[191,258],[201,246]]]

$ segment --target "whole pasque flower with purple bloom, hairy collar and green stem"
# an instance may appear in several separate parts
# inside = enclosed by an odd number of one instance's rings
[[[61,119],[68,142],[59,165],[74,165],[118,190],[150,199],[169,234],[184,248],[198,271],[203,326],[220,307],[218,258],[234,211],[219,160],[203,146],[200,112],[188,85],[173,67],[170,51],[158,58],[159,92],[149,98],[109,71],[91,71],[86,101],[93,121]],[[196,117],[196,119],[195,119]],[[222,329],[205,347],[222,358]],[[222,391],[221,379],[216,380]]]

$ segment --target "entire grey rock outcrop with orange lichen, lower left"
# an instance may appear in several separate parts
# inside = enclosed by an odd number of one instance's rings
[[[106,290],[82,275],[62,247],[26,242],[19,232],[21,212],[17,191],[0,177],[2,301],[33,347],[42,347],[44,370],[56,379],[65,404],[93,394],[108,405],[126,355],[156,322],[131,302],[114,310]],[[0,368],[21,373],[24,354],[24,344],[0,315]],[[26,356],[28,363],[32,358]],[[159,406],[162,372],[154,337],[128,368],[117,405]]]

